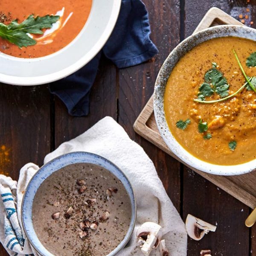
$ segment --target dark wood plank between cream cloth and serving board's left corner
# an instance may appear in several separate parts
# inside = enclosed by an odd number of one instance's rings
[[[157,73],[169,52],[180,41],[179,1],[145,0],[151,39],[159,49],[151,61],[119,70],[119,124],[139,143],[156,166],[175,207],[180,210],[180,163],[136,135],[133,124],[154,90]]]

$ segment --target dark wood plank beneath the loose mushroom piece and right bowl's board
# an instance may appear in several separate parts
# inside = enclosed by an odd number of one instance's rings
[[[213,6],[231,13],[235,18],[246,12],[247,1],[207,1],[204,4],[195,0],[185,1],[185,37],[196,28],[207,10]],[[218,189],[209,181],[185,168],[183,177],[183,219],[188,213],[218,223],[216,233],[209,234],[201,241],[188,240],[188,255],[199,255],[202,249],[211,249],[212,255],[249,255],[250,233],[244,220],[249,207]],[[239,231],[238,231],[239,230]],[[255,254],[256,255],[256,254]]]

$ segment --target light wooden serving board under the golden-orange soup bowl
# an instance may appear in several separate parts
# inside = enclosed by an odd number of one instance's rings
[[[213,7],[209,9],[198,27],[195,29],[194,33],[211,26],[223,24],[243,25],[227,13]],[[154,117],[153,96],[151,96],[148,103],[145,105],[145,108],[134,123],[134,130],[140,134],[140,136],[144,137],[146,140],[161,148],[167,154],[182,162],[168,148],[158,131]],[[188,165],[186,164],[186,166]],[[189,166],[189,168],[193,169],[195,172],[205,177],[207,180],[211,181],[230,195],[233,195],[247,206],[251,208],[256,207],[256,171],[237,176],[219,176],[201,172],[191,166]]]

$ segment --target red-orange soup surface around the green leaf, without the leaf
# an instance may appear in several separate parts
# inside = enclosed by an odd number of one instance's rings
[[[60,27],[48,36],[34,36],[37,44],[22,47],[0,38],[0,52],[20,58],[38,58],[57,52],[79,34],[90,14],[92,0],[1,0],[0,22],[21,23],[29,15],[60,15]],[[63,9],[64,8],[64,9]],[[63,14],[62,14],[62,12]]]

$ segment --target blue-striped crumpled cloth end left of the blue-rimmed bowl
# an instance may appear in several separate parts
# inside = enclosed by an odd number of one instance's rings
[[[23,166],[18,182],[0,175],[0,241],[11,256],[38,255],[26,239],[20,216],[23,192],[38,168],[33,163]]]

